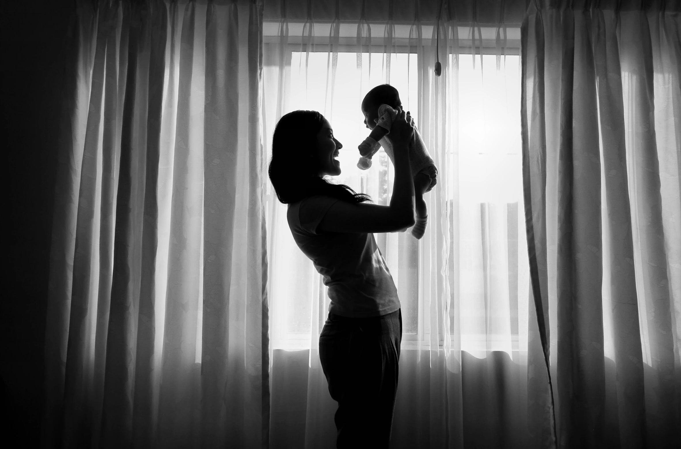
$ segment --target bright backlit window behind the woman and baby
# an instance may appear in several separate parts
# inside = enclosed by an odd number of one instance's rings
[[[356,29],[357,25],[353,25],[353,32]],[[289,33],[295,34],[290,29]],[[423,72],[419,72],[423,70],[419,68],[419,54],[408,45],[391,46],[394,52],[390,54],[379,52],[378,48],[372,48],[376,50],[372,53],[357,53],[356,46],[341,45],[334,55],[329,52],[328,37],[326,42],[311,46],[314,51],[308,52],[301,51],[300,44],[290,42],[285,76],[279,76],[281,65],[277,65],[275,57],[270,57],[268,63],[266,44],[263,77],[266,145],[276,124],[276,108],[281,108],[281,114],[296,109],[319,110],[344,145],[338,158],[342,174],[336,180],[368,193],[377,204],[387,204],[392,193],[393,168],[385,152],[377,153],[369,170],[358,170],[355,165],[359,157],[356,147],[368,135],[360,104],[368,89],[389,82],[398,89],[402,104],[418,124],[419,115],[428,108],[418,96],[419,83],[424,82],[420,75]],[[461,342],[462,350],[511,353],[518,350],[518,330],[522,327],[518,317],[526,315],[522,311],[519,315],[518,310],[524,307],[526,311],[527,295],[522,297],[522,291],[526,292],[528,285],[528,277],[522,280],[524,270],[520,266],[526,253],[518,251],[524,245],[520,58],[450,55],[447,63],[454,74],[449,96],[454,134],[443,154],[451,158],[449,166],[458,168],[454,174],[440,168],[439,174],[458,177],[457,183],[449,183],[446,192],[449,207],[458,211],[450,214],[449,223],[449,252],[456,254],[453,261],[456,263],[449,267],[450,284],[452,300],[458,303],[449,312],[450,332],[453,340]],[[268,95],[281,80],[285,80],[283,93]],[[429,151],[432,155],[432,150]],[[311,262],[296,247],[285,219],[285,207],[272,194],[268,202],[268,236],[272,237],[273,245],[272,346],[288,350],[309,348],[315,340],[313,335],[321,331],[326,320],[325,307],[329,303],[326,287]],[[434,223],[429,223],[432,226]],[[408,233],[375,237],[400,294],[402,347],[419,347],[419,335],[422,340],[430,339],[424,322],[426,312],[418,300],[419,292],[428,288],[424,276],[419,276],[419,243]],[[442,336],[439,340],[442,341]]]

